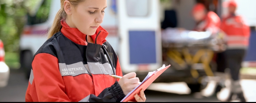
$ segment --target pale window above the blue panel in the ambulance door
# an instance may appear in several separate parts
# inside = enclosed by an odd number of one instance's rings
[[[126,0],[126,8],[129,16],[147,16],[149,0]]]

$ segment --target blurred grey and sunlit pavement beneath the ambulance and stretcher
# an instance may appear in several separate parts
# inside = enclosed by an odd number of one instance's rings
[[[256,80],[243,79],[241,83],[247,100],[256,102]],[[8,85],[0,88],[0,102],[25,102],[27,86],[25,74],[19,69],[11,69]],[[146,102],[219,102],[216,95],[197,99],[196,94],[187,92],[188,89],[183,82],[154,83],[145,90]]]

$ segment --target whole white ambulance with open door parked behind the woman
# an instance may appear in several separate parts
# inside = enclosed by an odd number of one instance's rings
[[[101,26],[109,32],[106,40],[117,52],[123,74],[136,72],[142,81],[148,72],[154,71],[170,62],[163,60],[162,51],[163,22],[169,21],[173,28],[192,30],[195,22],[191,16],[193,6],[198,2],[210,2],[209,10],[220,17],[227,13],[222,3],[227,0],[107,0],[105,17]],[[246,17],[255,34],[256,10],[254,0],[236,0],[237,13]],[[29,78],[31,61],[35,52],[47,40],[47,30],[52,25],[54,17],[60,9],[60,0],[37,0],[34,8],[27,15],[27,24],[20,37],[20,63]],[[172,13],[166,14],[166,13]],[[162,24],[161,24],[162,22]],[[168,24],[167,23],[167,24]],[[256,67],[256,52],[252,48],[256,37],[251,35],[250,46],[244,66]],[[186,82],[192,91],[201,88],[200,80],[191,76],[190,70],[177,70],[172,65],[155,82]],[[214,65],[212,70],[214,71]],[[203,69],[197,69],[198,71]],[[203,71],[204,72],[204,71]],[[205,74],[204,74],[205,75]]]

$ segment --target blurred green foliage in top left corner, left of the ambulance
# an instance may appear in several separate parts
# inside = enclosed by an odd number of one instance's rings
[[[40,0],[0,0],[0,39],[6,52],[18,52],[28,10]]]

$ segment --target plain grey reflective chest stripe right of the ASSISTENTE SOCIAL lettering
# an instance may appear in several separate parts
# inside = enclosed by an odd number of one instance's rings
[[[87,62],[92,74],[113,74],[109,63],[100,64],[99,62]]]

